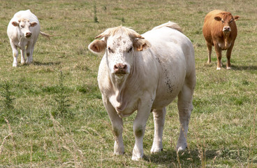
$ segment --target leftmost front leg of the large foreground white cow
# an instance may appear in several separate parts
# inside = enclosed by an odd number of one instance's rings
[[[124,144],[122,139],[123,121],[117,114],[117,111],[113,108],[112,104],[103,97],[103,104],[108,112],[108,116],[112,123],[112,133],[115,137],[114,155],[124,154]]]

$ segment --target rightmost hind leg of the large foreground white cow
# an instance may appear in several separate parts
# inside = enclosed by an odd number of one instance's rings
[[[186,137],[189,130],[191,111],[193,110],[192,100],[195,83],[196,78],[191,78],[191,80],[186,78],[184,86],[178,95],[177,107],[179,109],[180,133],[177,141],[177,151],[183,151],[187,146]]]

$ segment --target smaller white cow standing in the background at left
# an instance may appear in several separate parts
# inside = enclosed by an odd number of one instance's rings
[[[21,50],[21,64],[25,63],[25,52],[27,54],[26,63],[33,62],[33,51],[38,34],[43,36],[50,35],[40,31],[40,25],[36,15],[30,10],[20,10],[15,13],[7,27],[7,34],[10,39],[10,45],[13,49],[13,66],[17,66],[18,50]]]

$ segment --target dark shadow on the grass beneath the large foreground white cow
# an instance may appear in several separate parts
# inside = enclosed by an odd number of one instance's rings
[[[218,152],[214,150],[205,151],[202,156],[198,150],[186,150],[179,153],[176,153],[176,151],[162,151],[160,153],[144,155],[143,159],[158,165],[170,165],[172,167],[179,163],[183,163],[183,165],[201,165],[202,161],[215,160],[217,155],[219,155]]]

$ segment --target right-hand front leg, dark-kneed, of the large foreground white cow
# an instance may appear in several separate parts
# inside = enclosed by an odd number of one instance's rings
[[[132,160],[140,160],[144,155],[142,148],[142,139],[145,134],[145,127],[149,113],[151,111],[152,102],[148,102],[142,106],[138,106],[138,113],[133,122],[133,132],[135,135],[135,146],[133,148]]]

